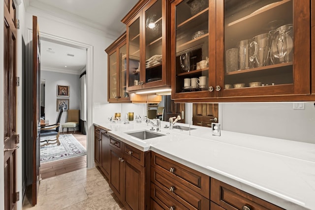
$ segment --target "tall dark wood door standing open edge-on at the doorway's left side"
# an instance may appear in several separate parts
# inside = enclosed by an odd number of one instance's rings
[[[40,39],[37,17],[33,16],[32,39],[32,205],[37,203],[40,181],[39,163],[39,129],[40,129]]]

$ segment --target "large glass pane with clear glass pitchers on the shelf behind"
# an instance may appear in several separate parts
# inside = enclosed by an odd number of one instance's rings
[[[224,90],[293,84],[294,27],[293,0],[224,0]]]

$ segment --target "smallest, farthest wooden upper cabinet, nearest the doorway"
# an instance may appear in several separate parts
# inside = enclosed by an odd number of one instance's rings
[[[106,50],[108,54],[108,94],[109,102],[130,102],[126,91],[126,33],[122,34]]]

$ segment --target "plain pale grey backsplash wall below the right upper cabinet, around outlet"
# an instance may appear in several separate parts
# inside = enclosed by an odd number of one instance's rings
[[[314,102],[304,110],[293,103],[223,103],[222,130],[315,144]]]

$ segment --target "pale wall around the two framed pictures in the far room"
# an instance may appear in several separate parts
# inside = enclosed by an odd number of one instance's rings
[[[50,124],[57,119],[57,98],[69,99],[68,109],[80,109],[80,75],[40,71],[40,79],[45,80],[45,119]],[[69,97],[57,97],[57,85],[69,86]],[[61,123],[65,122],[66,116],[67,112],[64,112]]]

